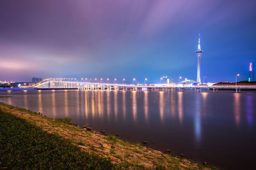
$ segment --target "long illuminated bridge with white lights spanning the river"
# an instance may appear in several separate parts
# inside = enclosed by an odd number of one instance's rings
[[[183,85],[132,85],[132,84],[120,84],[120,83],[95,83],[95,82],[84,82],[84,81],[63,81],[63,80],[51,80],[46,79],[34,86],[36,89],[79,89],[79,90],[148,90],[148,91],[184,91],[184,90],[195,90],[200,92],[202,90],[213,90],[218,92],[220,89],[225,90],[256,90],[256,85],[194,85],[194,86],[183,86]]]

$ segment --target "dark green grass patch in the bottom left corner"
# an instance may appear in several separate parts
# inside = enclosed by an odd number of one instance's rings
[[[26,111],[26,110],[22,110]],[[115,169],[68,139],[0,110],[0,169]]]

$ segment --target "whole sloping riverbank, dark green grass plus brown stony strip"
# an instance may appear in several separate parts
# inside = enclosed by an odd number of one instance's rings
[[[146,142],[147,143],[147,142]],[[218,169],[0,103],[0,169]]]

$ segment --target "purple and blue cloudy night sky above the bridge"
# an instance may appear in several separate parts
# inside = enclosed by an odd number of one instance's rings
[[[1,0],[0,80],[161,76],[235,81],[256,69],[253,0]]]

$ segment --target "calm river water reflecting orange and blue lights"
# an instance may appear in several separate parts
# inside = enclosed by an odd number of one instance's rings
[[[256,94],[35,90],[0,101],[228,169],[253,169]]]

